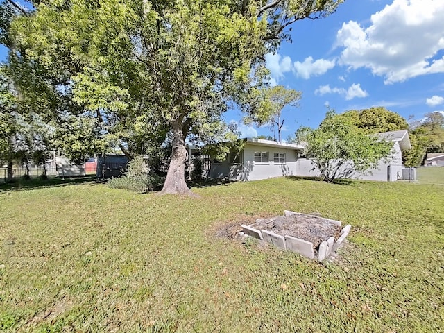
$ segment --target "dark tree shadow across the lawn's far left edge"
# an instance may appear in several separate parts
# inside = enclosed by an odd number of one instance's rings
[[[3,191],[22,191],[29,189],[40,189],[44,187],[62,187],[66,185],[97,185],[103,183],[95,175],[78,177],[56,177],[48,176],[46,179],[32,177],[30,179],[14,178],[11,182],[0,184],[0,192]]]

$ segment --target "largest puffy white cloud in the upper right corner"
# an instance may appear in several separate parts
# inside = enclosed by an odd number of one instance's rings
[[[336,35],[340,63],[367,67],[386,84],[443,73],[444,57],[436,58],[444,49],[443,20],[442,0],[394,0],[371,16],[368,28],[343,24]]]

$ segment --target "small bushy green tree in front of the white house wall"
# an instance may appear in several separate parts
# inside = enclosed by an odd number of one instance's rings
[[[332,110],[318,128],[300,128],[296,140],[305,145],[305,156],[316,164],[326,182],[348,178],[353,171],[366,173],[392,149],[391,142],[366,134]]]

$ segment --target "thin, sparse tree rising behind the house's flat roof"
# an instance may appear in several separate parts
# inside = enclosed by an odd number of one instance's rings
[[[263,108],[257,110],[253,114],[248,114],[244,117],[244,123],[256,123],[257,126],[262,126],[268,123],[271,130],[273,130],[273,139],[275,137],[275,128],[278,129],[278,142],[281,142],[281,130],[284,126],[284,119],[282,118],[282,110],[292,106],[298,107],[301,92],[294,89],[286,89],[282,85],[276,85],[268,89],[264,89],[264,105]]]

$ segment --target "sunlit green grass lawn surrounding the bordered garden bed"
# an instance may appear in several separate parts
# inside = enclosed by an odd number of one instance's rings
[[[194,191],[0,191],[0,331],[443,331],[443,187],[278,178]],[[283,210],[350,223],[340,257],[219,236]]]

